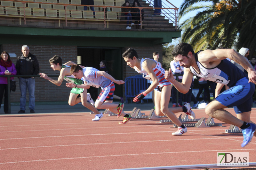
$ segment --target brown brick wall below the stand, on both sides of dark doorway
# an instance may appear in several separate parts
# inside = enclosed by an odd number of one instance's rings
[[[15,53],[17,56],[22,54],[21,47],[24,44],[3,44],[1,46],[1,51],[7,51],[8,53]],[[63,64],[68,61],[77,62],[77,47],[76,46],[50,46],[50,45],[30,45],[27,44],[30,53],[36,55],[37,60],[40,66],[40,72],[46,73],[48,75],[56,75],[59,76],[59,71],[53,71],[50,68],[49,59],[54,55],[59,55],[62,58]],[[153,58],[152,53],[158,52],[159,62],[162,62],[162,45],[156,45],[153,47],[125,47],[123,48],[123,52],[128,48],[134,48],[139,58]],[[11,58],[12,62],[16,64],[16,57]],[[123,79],[129,76],[138,75],[134,69],[128,67],[123,60]],[[57,80],[58,77],[52,77]],[[20,88],[19,88],[19,80],[18,78],[14,78],[16,80],[16,91],[11,92],[11,102],[20,102]],[[45,80],[44,78],[36,77],[36,89],[35,89],[35,98],[36,101],[67,101],[70,93],[70,88],[65,86],[66,81],[62,82],[62,85],[56,86]],[[27,101],[28,101],[28,91],[27,91]]]

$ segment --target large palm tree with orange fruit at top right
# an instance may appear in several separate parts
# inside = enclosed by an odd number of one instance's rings
[[[207,5],[198,5],[205,2]],[[184,30],[182,41],[190,43],[198,51],[219,46],[231,48],[238,39],[238,48],[246,47],[254,51],[255,6],[255,0],[184,0],[180,18],[190,11],[201,11],[181,24],[180,29]]]

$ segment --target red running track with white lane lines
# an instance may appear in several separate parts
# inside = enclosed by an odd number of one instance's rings
[[[256,109],[251,120],[256,122]],[[227,109],[235,115],[233,109]],[[146,115],[149,111],[141,111]],[[207,117],[194,109],[196,118]],[[217,164],[217,152],[249,152],[256,162],[255,137],[242,148],[243,136],[222,134],[227,127],[177,128],[159,119],[133,119],[104,115],[92,122],[89,113],[53,113],[0,116],[0,169],[88,169]],[[215,123],[220,121],[214,119]]]

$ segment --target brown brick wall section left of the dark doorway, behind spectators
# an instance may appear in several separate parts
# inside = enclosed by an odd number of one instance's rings
[[[3,44],[1,51],[7,51],[8,53],[15,53],[17,56],[22,54],[21,47],[24,44]],[[59,75],[59,71],[53,71],[50,68],[49,59],[54,55],[59,55],[62,58],[62,62],[66,63],[68,61],[77,62],[77,47],[76,46],[46,46],[46,45],[30,45],[27,44],[30,53],[36,55],[39,62],[40,71],[49,75]],[[16,57],[11,58],[12,62],[16,65]],[[52,77],[57,80],[58,77]],[[16,80],[16,91],[11,92],[11,102],[20,102],[20,88],[18,78]],[[52,84],[44,78],[36,77],[36,88],[35,88],[35,98],[36,101],[67,101],[70,93],[70,88],[65,86],[65,81],[62,82],[60,87]],[[27,91],[27,101],[28,101],[28,91]]]

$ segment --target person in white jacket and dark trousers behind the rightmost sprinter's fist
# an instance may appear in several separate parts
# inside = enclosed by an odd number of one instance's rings
[[[173,60],[171,61],[170,63],[170,66],[171,66],[171,69],[172,69],[172,74],[183,74],[183,67],[180,66],[180,63],[177,62],[175,60],[175,58],[173,58]],[[182,76],[179,76],[179,82],[182,82]],[[172,107],[176,107],[176,106],[179,106],[181,107],[182,106],[182,98],[183,98],[183,94],[178,92],[178,95],[179,95],[179,101],[177,101],[177,90],[176,88],[172,88]]]

